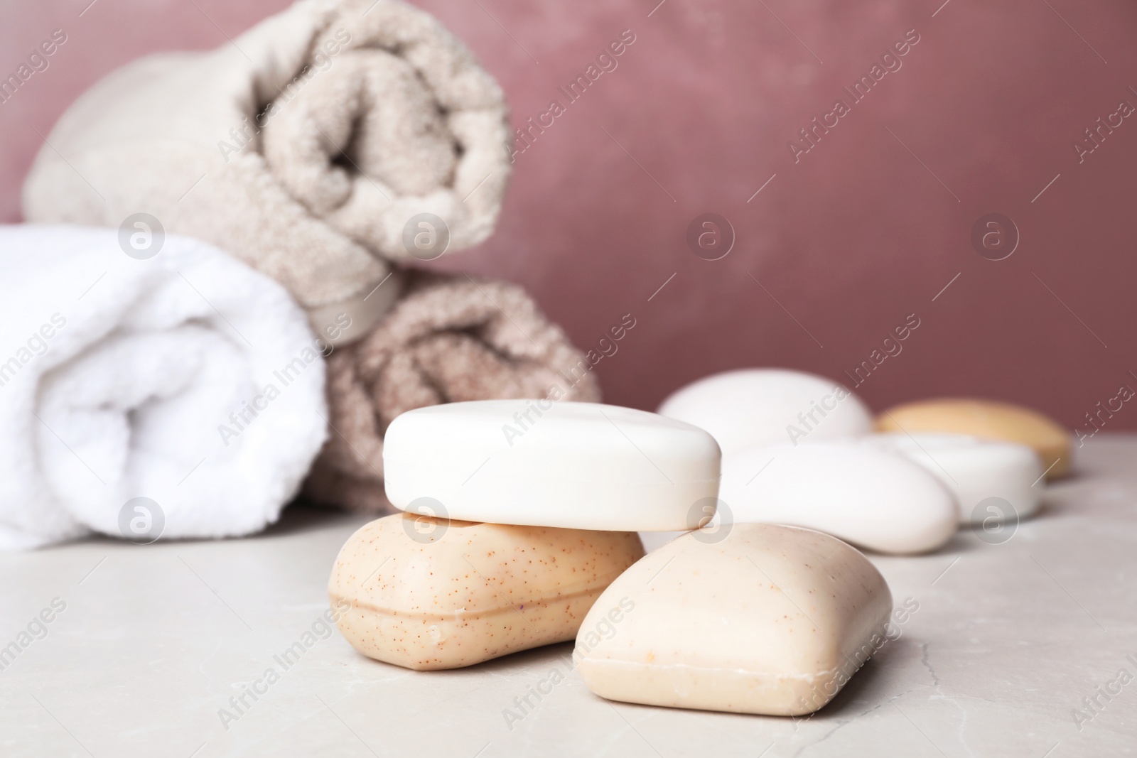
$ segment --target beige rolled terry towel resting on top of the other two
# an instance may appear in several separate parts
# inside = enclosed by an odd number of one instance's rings
[[[445,232],[415,216],[443,219],[449,250],[489,236],[507,140],[498,83],[432,16],[301,0],[214,51],[148,56],[92,86],[40,151],[24,215],[151,214],[282,283],[317,328],[347,313],[349,341],[399,293],[396,276],[367,298],[388,260],[435,257],[408,240]]]

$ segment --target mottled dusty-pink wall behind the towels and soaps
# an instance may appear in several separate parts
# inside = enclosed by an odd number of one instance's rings
[[[89,0],[0,10],[5,75],[51,30],[68,34],[0,105],[0,217],[19,218],[33,127],[47,134],[100,75],[152,50],[217,45],[287,5],[194,1],[200,11],[98,0],[82,18]],[[1082,164],[1072,148],[1120,100],[1137,105],[1131,2],[666,0],[649,17],[657,1],[421,3],[501,81],[518,125],[564,102],[557,88],[621,31],[636,34],[619,68],[516,157],[497,235],[446,263],[526,285],[582,347],[632,313],[597,367],[608,401],[653,408],[748,365],[839,377],[913,313],[903,352],[860,388],[875,408],[978,394],[1077,426],[1122,383],[1137,388],[1137,118]],[[911,28],[920,42],[903,67],[795,164],[788,141],[836,99],[850,103],[841,88]],[[704,211],[736,230],[721,260],[687,248]],[[991,211],[1021,233],[1005,260],[969,241]],[[1110,424],[1137,428],[1137,409]]]

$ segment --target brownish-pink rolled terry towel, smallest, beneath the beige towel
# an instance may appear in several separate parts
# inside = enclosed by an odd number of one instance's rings
[[[332,432],[305,483],[313,500],[383,511],[383,432],[399,414],[504,398],[598,401],[584,356],[523,289],[407,272],[407,290],[362,342],[327,359]]]

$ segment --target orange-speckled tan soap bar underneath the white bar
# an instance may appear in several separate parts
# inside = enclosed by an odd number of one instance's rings
[[[644,555],[636,534],[396,514],[351,535],[327,595],[363,655],[418,670],[470,666],[575,636]]]

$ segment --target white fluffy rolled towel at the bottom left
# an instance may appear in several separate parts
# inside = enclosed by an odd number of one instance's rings
[[[146,219],[0,226],[0,548],[276,520],[327,427],[281,285]]]

